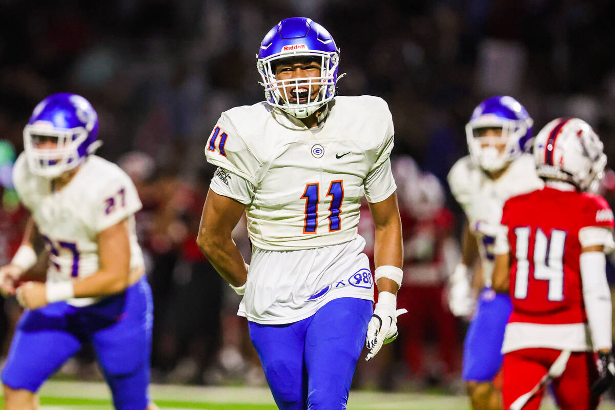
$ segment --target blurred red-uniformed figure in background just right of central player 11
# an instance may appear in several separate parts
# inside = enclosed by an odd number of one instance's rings
[[[461,352],[456,319],[444,298],[445,284],[459,260],[454,216],[444,207],[442,184],[433,174],[395,179],[405,192],[400,201],[403,282],[397,298],[400,307],[412,312],[397,323],[402,358],[415,385],[438,382],[450,387],[459,376]]]

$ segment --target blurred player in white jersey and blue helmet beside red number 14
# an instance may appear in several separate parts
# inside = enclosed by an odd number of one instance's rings
[[[462,260],[450,278],[449,306],[457,316],[474,310],[468,272],[480,256],[483,290],[464,341],[462,378],[475,410],[502,408],[493,378],[502,366],[502,340],[512,305],[507,294],[491,289],[493,245],[504,202],[542,186],[531,146],[533,121],[512,97],[491,97],[474,109],[466,125],[470,155],[448,174],[451,192],[467,216]]]

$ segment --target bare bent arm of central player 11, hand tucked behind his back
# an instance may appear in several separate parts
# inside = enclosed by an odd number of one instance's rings
[[[248,271],[231,234],[244,213],[244,208],[242,203],[216,194],[210,189],[205,199],[196,240],[218,274],[240,294],[244,291]]]

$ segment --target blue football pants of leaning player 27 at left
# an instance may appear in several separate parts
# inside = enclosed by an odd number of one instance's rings
[[[114,407],[145,410],[152,319],[145,276],[126,291],[90,306],[56,302],[26,310],[17,324],[2,382],[35,393],[82,343],[91,342]]]

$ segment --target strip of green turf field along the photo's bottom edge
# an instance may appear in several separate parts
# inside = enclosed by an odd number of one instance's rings
[[[267,388],[260,387],[189,387],[153,385],[151,393],[161,409],[203,410],[276,410]],[[40,392],[44,410],[111,409],[109,390],[100,382],[65,382],[52,380]],[[542,409],[555,409],[551,400]],[[429,395],[426,393],[351,392],[349,410],[467,410],[464,396]],[[615,406],[603,403],[603,410]]]

